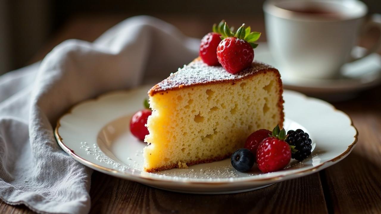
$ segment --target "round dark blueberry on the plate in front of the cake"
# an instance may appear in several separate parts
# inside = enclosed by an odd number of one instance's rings
[[[250,170],[254,165],[254,155],[248,149],[237,149],[230,160],[234,169],[240,172]]]

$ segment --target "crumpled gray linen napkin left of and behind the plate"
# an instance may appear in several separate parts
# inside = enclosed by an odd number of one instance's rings
[[[0,76],[1,199],[39,213],[87,213],[92,171],[57,144],[57,118],[106,91],[166,77],[196,57],[198,45],[170,24],[137,16],[94,43],[65,41],[42,62]]]

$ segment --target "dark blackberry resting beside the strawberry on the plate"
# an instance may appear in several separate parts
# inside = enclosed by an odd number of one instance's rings
[[[292,149],[291,158],[302,161],[311,155],[312,141],[307,133],[302,129],[296,129],[295,131],[288,131],[287,134],[286,142],[291,146],[295,146],[295,150]]]

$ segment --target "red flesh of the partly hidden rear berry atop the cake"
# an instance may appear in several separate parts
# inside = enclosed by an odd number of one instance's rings
[[[219,42],[221,42],[221,35],[215,32],[208,33],[201,40],[200,57],[203,62],[210,66],[219,65],[217,59],[217,46]]]

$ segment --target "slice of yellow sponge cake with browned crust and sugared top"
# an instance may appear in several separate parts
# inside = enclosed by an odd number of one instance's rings
[[[144,170],[187,168],[229,157],[258,129],[283,124],[277,69],[253,62],[231,74],[199,58],[150,89]]]

